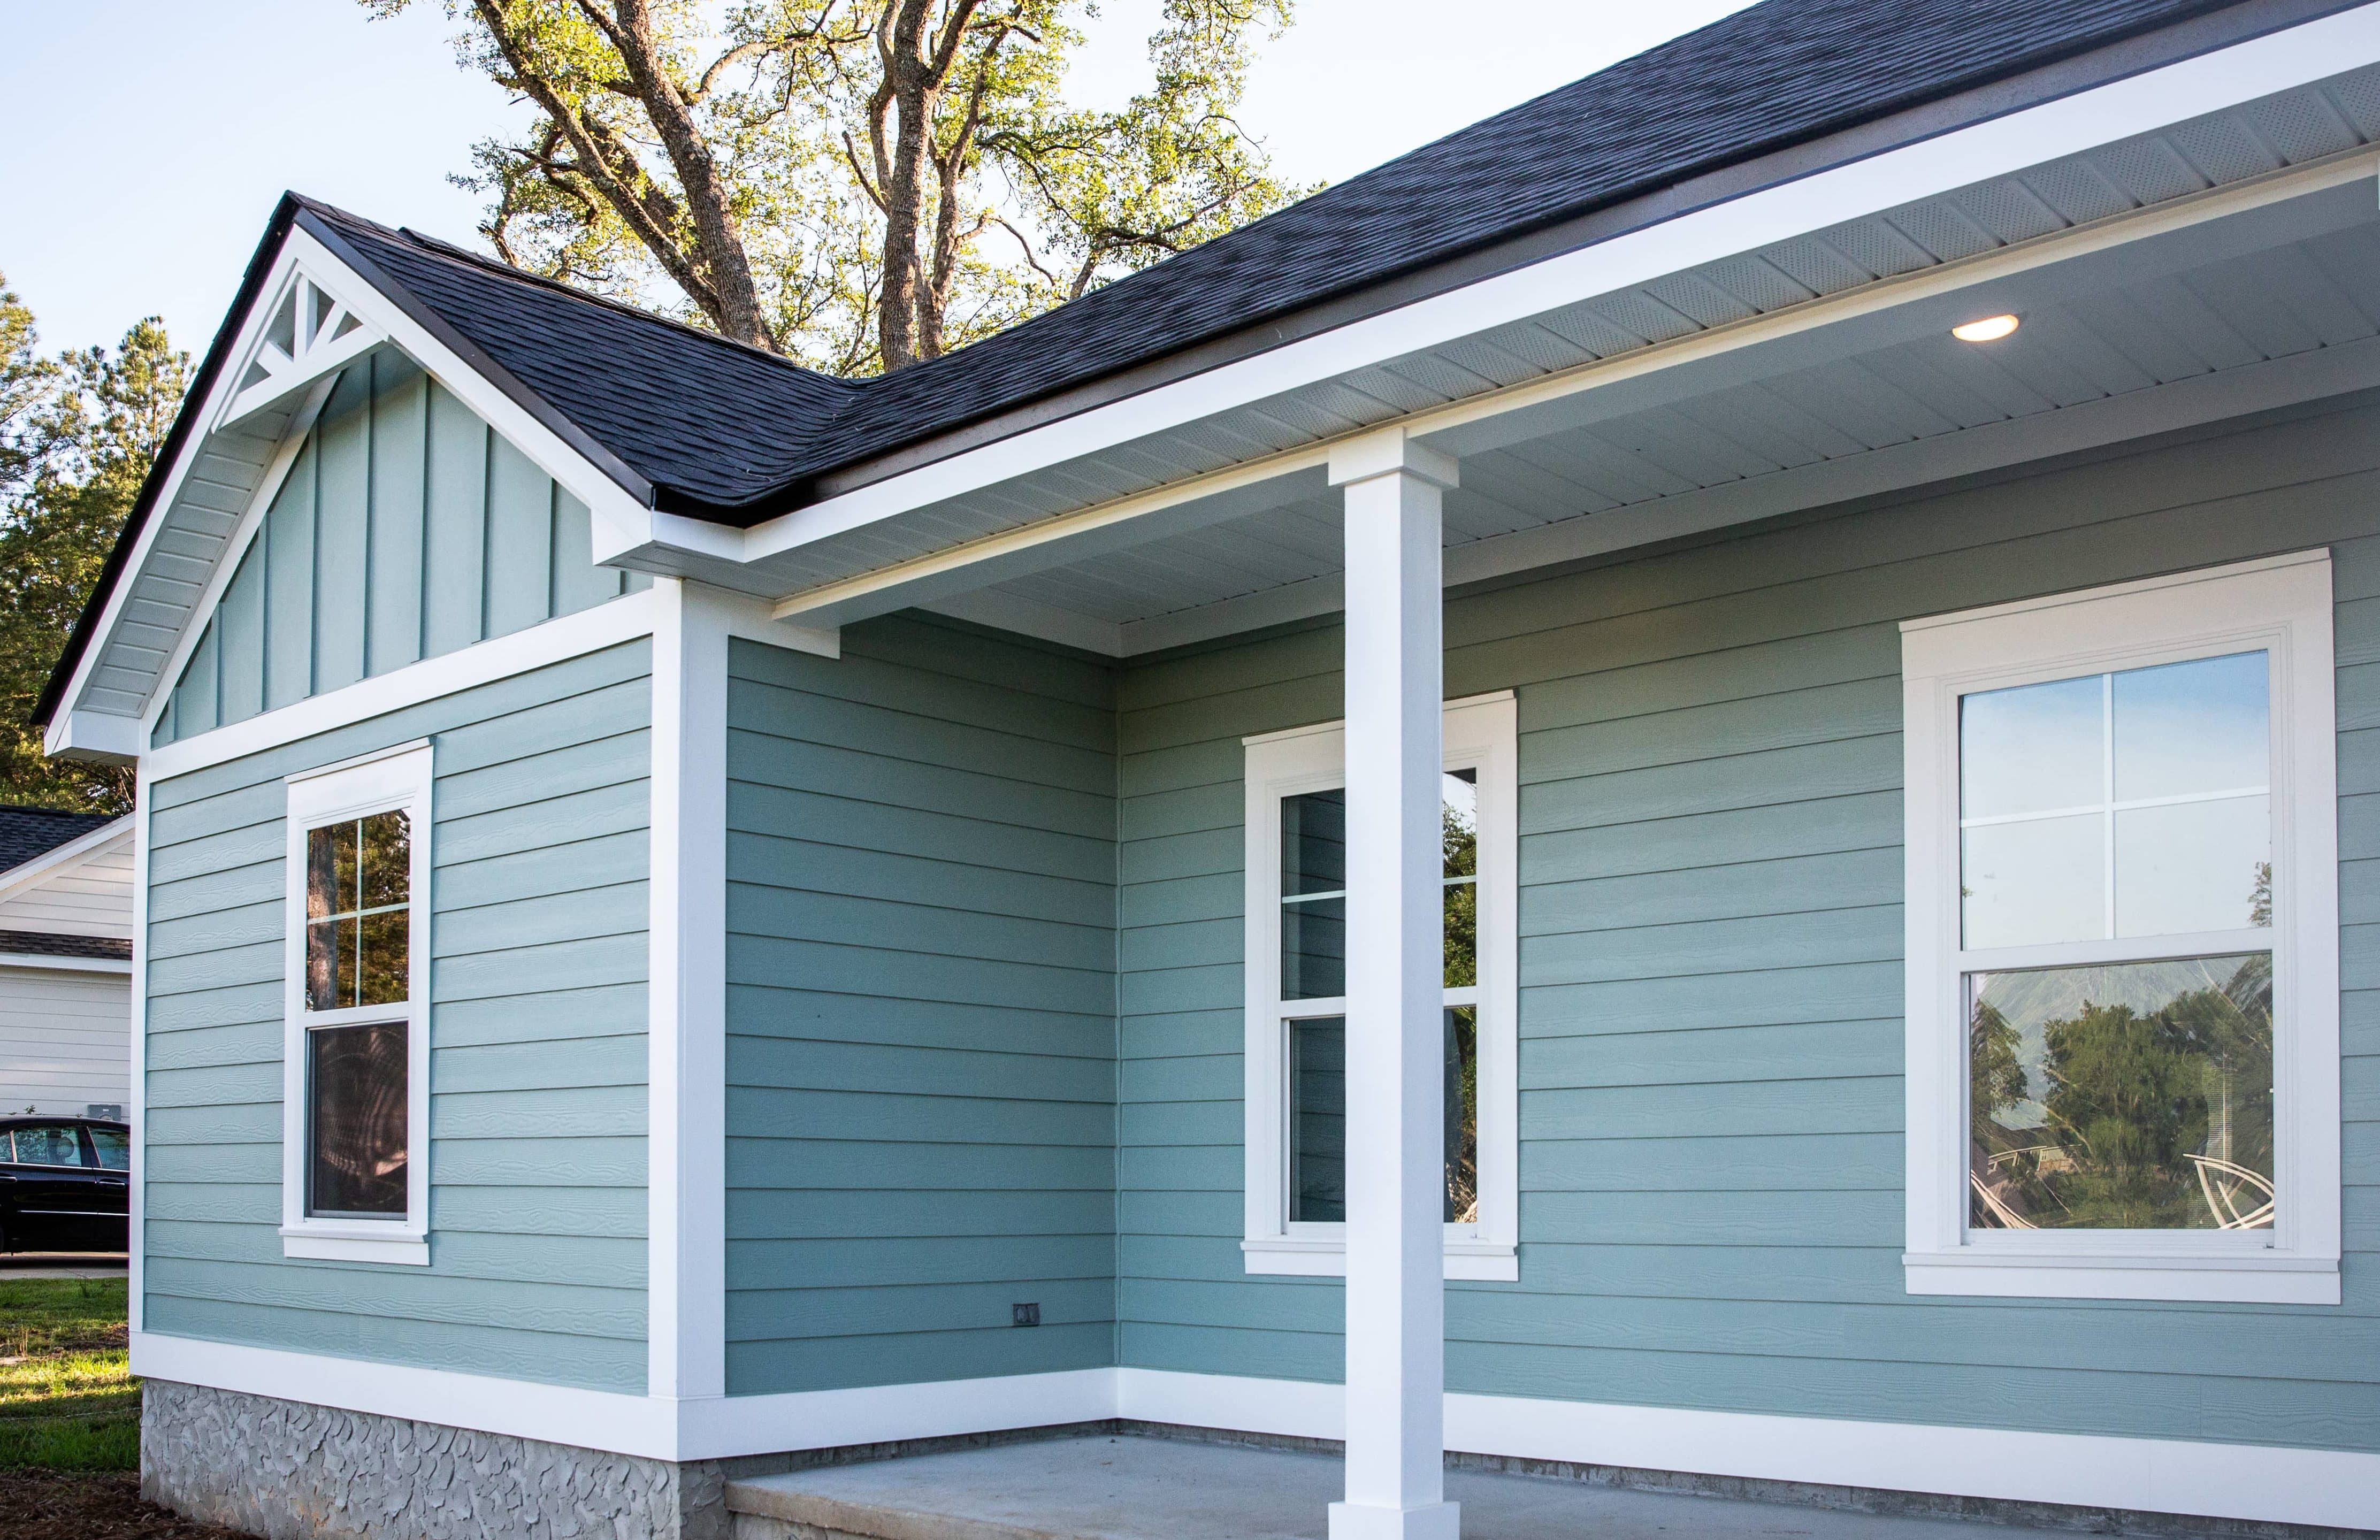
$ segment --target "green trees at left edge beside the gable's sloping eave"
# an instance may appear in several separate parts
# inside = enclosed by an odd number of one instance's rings
[[[43,759],[33,702],[174,426],[190,355],[155,317],[43,359],[0,278],[0,802],[126,812],[129,769]]]

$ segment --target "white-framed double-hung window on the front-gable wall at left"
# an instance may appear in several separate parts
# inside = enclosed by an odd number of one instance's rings
[[[281,1250],[428,1262],[431,747],[288,778]]]

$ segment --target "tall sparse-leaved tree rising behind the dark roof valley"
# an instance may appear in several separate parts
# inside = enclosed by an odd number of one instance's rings
[[[1290,0],[1166,0],[1154,81],[1114,109],[1064,93],[1095,0],[443,5],[462,64],[538,107],[457,176],[507,262],[828,374],[938,357],[1302,195],[1235,119]]]

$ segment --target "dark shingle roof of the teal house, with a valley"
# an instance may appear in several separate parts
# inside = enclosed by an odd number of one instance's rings
[[[305,205],[654,488],[752,524],[823,471],[2225,0],[1768,0],[954,355],[833,381]],[[638,488],[640,490],[640,488]]]

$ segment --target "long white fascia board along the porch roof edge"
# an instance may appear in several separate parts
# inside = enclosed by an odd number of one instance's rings
[[[1709,205],[888,476],[752,526],[743,533],[743,559],[757,562],[1407,352],[1438,348],[1935,193],[2009,176],[2078,150],[2149,133],[2373,62],[2380,62],[2380,5],[2363,5],[2249,38]]]

